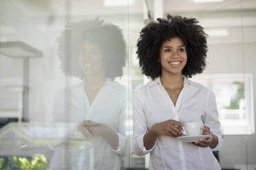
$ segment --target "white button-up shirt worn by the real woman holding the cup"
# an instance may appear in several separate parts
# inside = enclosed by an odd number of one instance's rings
[[[220,121],[215,95],[209,88],[184,77],[184,88],[174,106],[158,77],[136,88],[133,107],[134,151],[138,155],[150,153],[149,169],[220,169],[212,152],[220,150],[222,145]],[[219,143],[211,149],[198,147],[193,143],[182,143],[170,136],[158,136],[155,145],[147,150],[143,145],[144,135],[155,123],[169,119],[181,123],[202,121],[217,136]]]

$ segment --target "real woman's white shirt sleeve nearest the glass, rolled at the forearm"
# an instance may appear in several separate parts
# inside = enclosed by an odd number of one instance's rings
[[[143,101],[140,98],[140,94],[138,93],[137,89],[135,90],[134,97],[133,97],[133,117],[134,117],[134,140],[133,140],[134,153],[137,154],[138,156],[142,156],[153,151],[153,149],[156,147],[156,143],[149,150],[147,150],[144,146],[143,138],[149,130],[147,128],[147,117],[143,110]]]

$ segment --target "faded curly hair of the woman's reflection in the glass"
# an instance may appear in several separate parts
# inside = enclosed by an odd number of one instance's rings
[[[113,80],[122,76],[127,49],[122,30],[118,26],[103,24],[99,19],[70,23],[57,41],[61,69],[65,75],[84,76],[78,64],[78,53],[81,44],[88,41],[100,46],[105,77]]]

